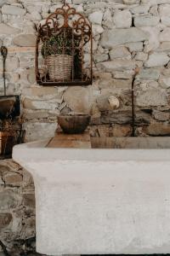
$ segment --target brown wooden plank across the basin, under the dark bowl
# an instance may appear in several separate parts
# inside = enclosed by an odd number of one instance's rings
[[[52,138],[47,148],[91,148],[88,132],[83,134],[64,134],[58,131]]]

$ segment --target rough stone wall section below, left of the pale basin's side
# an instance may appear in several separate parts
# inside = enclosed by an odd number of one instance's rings
[[[0,161],[0,256],[35,251],[32,178],[12,160]]]

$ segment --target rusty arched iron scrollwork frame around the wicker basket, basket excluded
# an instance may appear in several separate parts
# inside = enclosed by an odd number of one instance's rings
[[[53,38],[53,40],[55,39],[58,43],[53,45],[49,44],[49,42],[51,42],[51,38]],[[59,42],[61,41],[62,43],[60,44]],[[88,50],[90,55],[88,58],[90,59],[89,65],[87,65],[87,63],[84,61],[85,44],[89,44],[90,48]],[[52,79],[50,79],[48,76],[48,67],[46,67],[46,73],[43,76],[42,68],[40,67],[41,45],[43,48],[43,53],[49,52],[49,47],[51,47],[51,51],[53,53],[56,47],[58,47],[58,49],[60,47],[60,52],[62,55],[68,54],[70,48],[70,55],[72,55],[70,80],[62,79],[62,81],[59,81],[58,79],[53,79],[52,81]],[[57,52],[59,52],[59,50]],[[44,58],[42,62],[44,62],[43,66],[45,66],[47,61]],[[85,66],[86,68],[84,68]],[[45,23],[38,27],[36,73],[37,83],[44,85],[79,85],[92,83],[92,26],[84,15],[78,13],[75,8],[71,8],[69,4],[64,4],[61,8],[56,9],[53,14],[48,16]]]

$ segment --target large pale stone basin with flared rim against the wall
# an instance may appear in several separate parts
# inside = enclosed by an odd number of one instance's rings
[[[143,138],[155,149],[135,140],[133,149],[14,147],[34,178],[38,253],[169,253],[170,137]]]

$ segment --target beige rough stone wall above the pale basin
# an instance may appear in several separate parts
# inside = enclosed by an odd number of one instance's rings
[[[106,130],[113,128],[113,136],[129,136],[136,65],[140,68],[134,88],[136,134],[168,135],[170,1],[67,2],[93,24],[94,83],[88,87],[41,87],[35,81],[37,26],[61,1],[0,1],[0,44],[8,47],[7,91],[22,96],[26,141],[52,137],[57,127],[56,115],[70,112],[91,113],[94,131],[105,126]],[[88,62],[88,55],[85,59]],[[3,94],[2,73],[0,92]]]

